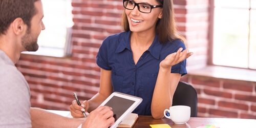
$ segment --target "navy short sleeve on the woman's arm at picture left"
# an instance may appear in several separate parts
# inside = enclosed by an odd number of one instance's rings
[[[108,64],[108,44],[109,44],[108,38],[104,39],[96,57],[97,65],[100,68],[105,70],[111,70],[111,67]]]

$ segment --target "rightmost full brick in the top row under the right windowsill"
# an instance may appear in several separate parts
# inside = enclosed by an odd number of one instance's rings
[[[248,85],[246,82],[226,82],[223,83],[224,89],[231,89],[231,90],[238,90],[238,91],[245,91],[245,92],[252,92],[253,86]]]

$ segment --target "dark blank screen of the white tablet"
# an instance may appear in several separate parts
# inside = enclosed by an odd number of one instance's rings
[[[108,102],[106,102],[106,106],[110,106],[113,109],[115,121],[133,105],[135,101],[125,99],[122,97],[113,96]]]

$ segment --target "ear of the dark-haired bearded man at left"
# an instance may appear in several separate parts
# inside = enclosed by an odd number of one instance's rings
[[[12,22],[12,30],[16,35],[26,32],[27,25],[23,22],[22,18],[16,18]]]

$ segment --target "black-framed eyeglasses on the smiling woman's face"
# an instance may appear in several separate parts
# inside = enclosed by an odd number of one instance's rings
[[[123,0],[123,7],[125,9],[133,10],[135,6],[137,6],[139,11],[143,13],[151,13],[153,8],[163,7],[162,5],[148,5],[145,3],[135,3],[134,1],[130,0]]]

